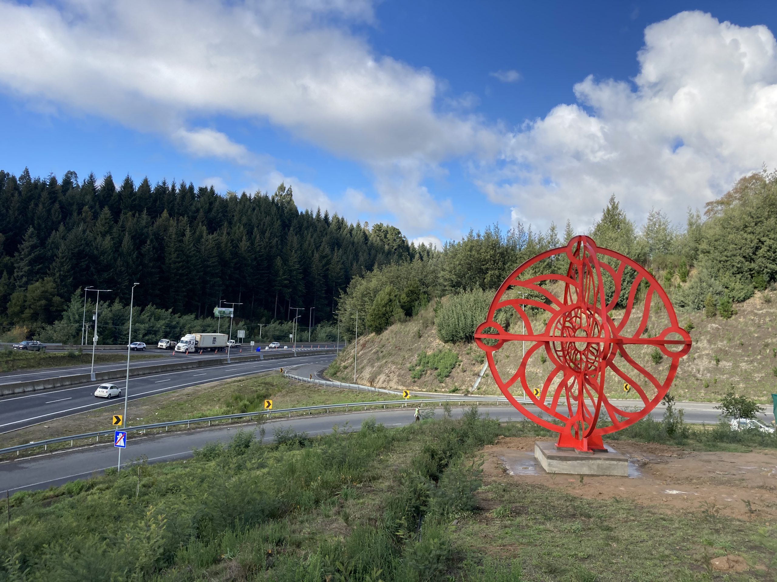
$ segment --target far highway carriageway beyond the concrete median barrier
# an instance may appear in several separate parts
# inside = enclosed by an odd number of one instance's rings
[[[334,342],[330,344],[319,344],[319,343],[311,343],[308,344],[307,342],[305,344],[298,344],[297,345],[297,351],[298,352],[308,352],[311,347],[315,348],[317,346],[329,347],[334,348],[336,344]],[[242,352],[239,351],[240,348],[234,348],[230,351],[230,359],[239,359],[242,357],[245,357],[246,355],[253,355],[256,352],[256,346],[252,349],[250,346],[242,346]],[[267,345],[262,345],[262,351],[267,350],[267,353],[275,353],[275,352],[292,352],[291,346],[289,348],[283,348],[280,349],[267,349]],[[87,352],[85,352],[87,353]],[[126,349],[124,352],[116,352],[113,350],[99,350],[96,352],[97,354],[112,354],[117,355],[119,353],[126,354]],[[148,359],[138,359],[134,360],[131,359],[130,361],[130,367],[131,368],[141,368],[145,365],[159,365],[159,364],[165,364],[167,362],[177,362],[180,359],[214,359],[214,358],[225,358],[226,352],[218,352],[216,354],[214,353],[207,353],[203,355],[199,354],[173,354],[172,350],[160,350],[156,347],[153,348],[147,348],[145,352],[132,352],[132,355],[135,354],[149,354],[149,355],[158,355],[159,358],[148,358]],[[95,372],[107,372],[110,370],[119,370],[119,369],[126,369],[127,368],[127,361],[126,359],[124,362],[112,362],[110,364],[96,364],[95,365]],[[92,366],[90,364],[88,365],[72,365],[72,366],[66,366],[66,367],[60,367],[60,368],[43,368],[43,369],[34,369],[34,370],[16,370],[14,372],[2,372],[0,373],[0,385],[2,384],[10,384],[15,382],[26,382],[33,380],[39,380],[39,379],[46,379],[46,378],[57,378],[59,376],[72,376],[75,374],[88,374],[89,371],[92,369]]]

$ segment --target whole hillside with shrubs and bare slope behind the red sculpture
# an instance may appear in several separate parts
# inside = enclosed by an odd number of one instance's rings
[[[681,326],[690,331],[694,346],[681,360],[673,387],[678,399],[720,400],[733,386],[766,403],[777,391],[775,232],[774,173],[742,178],[726,196],[708,203],[703,217],[689,211],[684,229],[674,227],[656,210],[640,229],[626,217],[615,197],[591,228],[589,234],[601,247],[634,258],[653,273],[674,303]],[[567,224],[563,240],[571,236]],[[470,390],[484,362],[472,334],[485,320],[493,289],[521,262],[556,246],[555,227],[545,234],[532,234],[520,226],[502,234],[493,227],[447,244],[429,261],[388,265],[354,278],[340,298],[340,314],[343,328],[352,336],[359,313],[358,379],[375,386],[454,393]],[[563,257],[548,259],[535,265],[530,275],[566,273],[567,266]],[[609,293],[608,300],[612,291]],[[641,314],[643,298],[641,289],[632,319]],[[622,317],[619,310],[625,297],[617,303],[615,318]],[[655,300],[650,310],[650,317],[657,317],[650,328],[658,325],[655,329],[663,329],[665,312]],[[535,329],[547,323],[543,313],[529,310]],[[504,317],[500,323],[506,330],[521,331],[516,314]],[[520,342],[512,342],[498,352],[497,360],[506,369],[512,362],[514,371],[522,350]],[[656,350],[637,350],[636,358],[658,378],[666,375],[670,360]],[[544,360],[542,352],[531,357],[530,383],[542,385],[551,371]],[[353,345],[329,373],[353,379]],[[610,383],[611,395],[635,397],[618,394],[622,381],[617,378],[612,377]],[[486,373],[479,393],[496,390]]]

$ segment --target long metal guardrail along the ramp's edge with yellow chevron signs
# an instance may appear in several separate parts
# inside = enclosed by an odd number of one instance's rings
[[[389,405],[399,405],[400,407],[406,407],[408,404],[442,404],[444,402],[456,402],[458,404],[472,404],[477,402],[496,402],[497,404],[509,404],[507,403],[507,400],[503,398],[480,398],[478,400],[470,400],[467,398],[427,398],[427,399],[419,399],[419,400],[380,400],[375,402],[348,402],[346,404],[321,404],[318,406],[303,406],[303,407],[296,407],[296,408],[282,408],[277,411],[256,411],[256,412],[243,412],[239,414],[221,414],[220,416],[210,416],[210,417],[202,417],[202,418],[190,418],[186,421],[169,421],[169,422],[157,422],[155,424],[141,424],[139,426],[135,427],[127,427],[124,428],[124,431],[127,432],[138,432],[142,431],[145,433],[145,431],[152,430],[154,428],[169,428],[171,426],[182,426],[183,424],[186,424],[186,428],[189,428],[191,424],[197,424],[197,423],[204,423],[207,422],[208,426],[211,425],[211,422],[215,421],[232,421],[232,419],[238,419],[238,418],[253,418],[253,417],[272,417],[274,414],[280,415],[280,414],[288,414],[288,416],[291,418],[291,414],[294,412],[308,412],[308,411],[322,411],[326,410],[329,412],[329,409],[345,409],[348,411],[348,408],[359,408],[364,407],[364,410],[367,410],[368,407],[374,407],[374,406],[382,406],[387,407]],[[101,436],[106,435],[113,435],[113,432],[116,429],[109,429],[105,431],[95,431],[95,432],[85,432],[81,435],[68,435],[64,437],[58,437],[58,438],[47,438],[45,441],[37,441],[37,442],[28,442],[24,445],[16,445],[13,447],[7,447],[5,449],[0,449],[0,455],[5,455],[10,452],[16,452],[16,454],[19,454],[19,451],[23,451],[25,449],[35,449],[37,447],[44,447],[44,450],[48,448],[48,445],[55,445],[58,442],[71,442],[71,446],[74,441],[84,440],[86,438],[95,438],[96,442],[99,442],[99,438]]]

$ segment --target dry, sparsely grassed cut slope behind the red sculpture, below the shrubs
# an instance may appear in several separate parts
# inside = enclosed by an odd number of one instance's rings
[[[681,359],[671,389],[677,400],[719,401],[726,390],[734,386],[737,393],[754,397],[762,404],[771,403],[770,395],[777,391],[777,302],[767,302],[763,294],[758,293],[735,307],[737,314],[730,320],[719,317],[706,319],[700,312],[678,314],[682,326],[690,320],[695,327],[691,331],[693,348],[688,356]],[[640,314],[639,308],[636,309],[629,326],[639,319]],[[622,314],[614,314],[616,320],[620,316]],[[666,321],[663,310],[655,307],[655,303],[650,317],[650,326],[655,330],[661,329]],[[538,319],[534,324],[535,329],[542,328],[543,322]],[[509,331],[520,333],[520,324],[514,324]],[[456,352],[461,359],[458,367],[444,383],[440,383],[432,373],[413,381],[408,366],[415,362],[416,355],[438,348]],[[663,380],[669,360],[664,358],[655,364],[650,359],[649,349],[636,352],[635,359]],[[497,366],[504,377],[514,372],[521,357],[521,342],[507,343],[497,353]],[[483,362],[483,352],[476,345],[444,345],[437,338],[431,307],[409,321],[392,325],[379,336],[369,334],[359,338],[358,379],[359,383],[370,386],[464,393],[472,387]],[[537,352],[528,363],[530,386],[542,386],[543,379],[551,370],[550,362],[541,362]],[[328,373],[336,379],[353,381],[353,344],[343,350]],[[610,374],[609,395],[636,398],[633,390],[629,394],[623,393],[622,384],[622,379]],[[486,371],[478,393],[497,393],[490,371]]]

